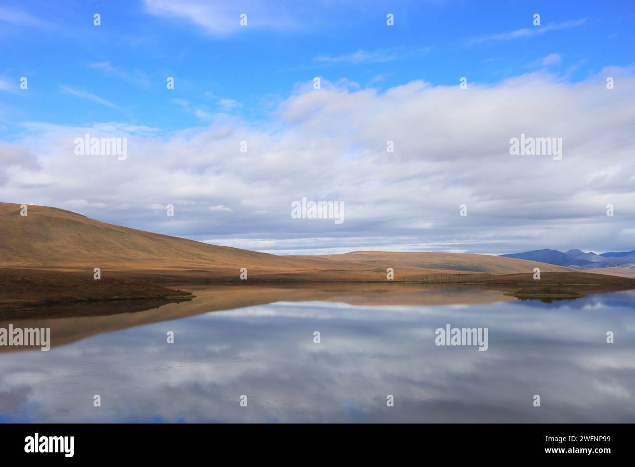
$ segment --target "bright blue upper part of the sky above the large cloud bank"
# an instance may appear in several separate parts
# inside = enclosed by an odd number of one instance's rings
[[[206,12],[200,25],[152,14],[153,4],[4,1],[0,76],[13,85],[27,76],[29,93],[3,95],[0,134],[22,134],[24,121],[126,120],[169,131],[207,120],[175,100],[205,115],[235,100],[242,107],[232,111],[254,121],[314,76],[380,90],[415,79],[453,85],[461,76],[493,83],[539,68],[552,53],[561,60],[548,66],[579,80],[631,64],[635,44],[630,1],[508,1],[497,8],[478,1],[271,2],[266,10],[236,2],[222,15]],[[243,12],[247,27],[213,26],[225,19],[237,25]],[[100,27],[94,13],[102,15]],[[394,27],[386,13],[395,15]],[[525,37],[496,37],[523,29]],[[175,78],[173,91],[167,76]]]

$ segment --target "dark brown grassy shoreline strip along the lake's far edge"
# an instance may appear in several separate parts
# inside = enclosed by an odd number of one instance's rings
[[[235,275],[235,274],[233,274]],[[181,271],[180,274],[156,274],[156,271],[102,271],[100,280],[93,279],[93,271],[67,272],[42,269],[0,269],[0,311],[17,311],[32,309],[37,306],[59,304],[80,304],[82,302],[114,301],[153,301],[149,308],[169,301],[184,301],[192,299],[194,295],[184,290],[168,288],[163,284],[169,279],[172,283],[179,283],[178,287],[193,287],[205,283],[224,283],[235,285],[247,290],[251,287],[266,285],[298,285],[295,277],[283,280],[277,274],[271,277],[261,274],[257,278],[241,281],[235,277],[213,277],[204,280],[201,271]],[[220,279],[220,280],[219,280]],[[311,283],[331,283],[331,277],[313,276]],[[543,273],[540,280],[533,280],[533,274],[433,274],[422,275],[418,278],[408,278],[407,281],[370,281],[366,277],[362,280],[350,280],[349,285],[344,281],[337,281],[342,287],[353,287],[357,283],[382,283],[386,287],[399,284],[457,284],[471,285],[479,288],[498,290],[505,295],[518,299],[576,299],[589,294],[614,292],[635,288],[635,280],[605,274],[591,273]],[[101,305],[100,305],[101,306]],[[126,306],[125,308],[130,308]],[[134,306],[133,308],[137,308]],[[52,309],[52,308],[51,308]]]

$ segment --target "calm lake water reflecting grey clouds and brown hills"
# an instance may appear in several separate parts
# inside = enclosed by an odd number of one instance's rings
[[[473,288],[229,289],[123,315],[5,318],[51,327],[53,348],[0,349],[0,421],[635,422],[633,291],[545,304]],[[446,324],[488,328],[488,350],[436,346]]]

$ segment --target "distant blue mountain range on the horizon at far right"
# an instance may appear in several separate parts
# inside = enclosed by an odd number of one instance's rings
[[[558,250],[545,248],[544,250],[501,256],[585,269],[589,267],[635,267],[635,250],[630,252],[608,252],[598,255],[594,252],[583,252],[582,250],[569,250],[563,253]]]

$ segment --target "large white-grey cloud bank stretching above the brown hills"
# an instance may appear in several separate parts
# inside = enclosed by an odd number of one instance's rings
[[[620,86],[606,90],[606,76]],[[323,82],[316,91],[305,83],[257,125],[217,114],[170,135],[112,123],[30,125],[20,147],[36,160],[12,159],[0,199],[104,203],[81,213],[284,252],[631,250],[634,100],[634,70],[612,68],[579,83],[534,72],[467,90],[412,81],[385,92]],[[128,137],[128,159],[75,156],[73,140],[86,132]],[[521,133],[563,138],[563,159],[510,156],[509,139]],[[291,219],[291,202],[303,196],[343,201],[344,224]],[[138,208],[167,203],[175,222]],[[606,217],[607,203],[615,217]],[[210,216],[210,205],[234,215]]]

